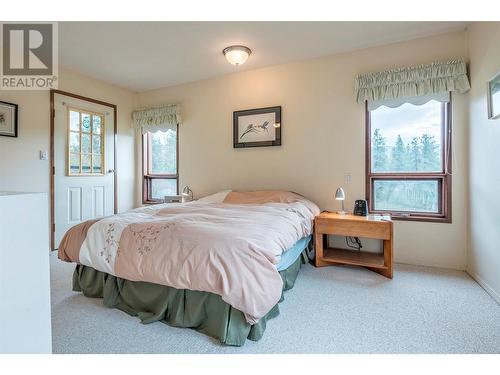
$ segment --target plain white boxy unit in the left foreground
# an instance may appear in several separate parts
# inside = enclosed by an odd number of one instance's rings
[[[52,353],[48,207],[0,192],[0,354]]]

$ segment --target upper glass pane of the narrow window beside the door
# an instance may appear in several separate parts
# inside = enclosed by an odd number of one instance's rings
[[[174,130],[150,133],[152,174],[177,174],[177,134]]]

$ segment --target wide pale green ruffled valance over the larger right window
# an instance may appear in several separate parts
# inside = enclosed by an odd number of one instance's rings
[[[360,74],[356,77],[356,101],[414,98],[470,89],[463,59]]]

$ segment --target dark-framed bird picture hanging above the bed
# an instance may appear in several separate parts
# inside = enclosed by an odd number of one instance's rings
[[[281,146],[281,106],[233,112],[233,147]]]

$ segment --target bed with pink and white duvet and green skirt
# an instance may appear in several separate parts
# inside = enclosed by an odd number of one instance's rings
[[[259,340],[307,260],[318,207],[287,191],[225,191],[80,223],[61,260],[73,290],[226,345]]]

